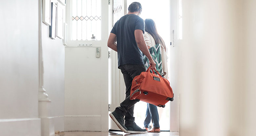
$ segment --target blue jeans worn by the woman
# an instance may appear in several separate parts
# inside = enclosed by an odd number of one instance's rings
[[[146,119],[144,121],[144,127],[147,127],[147,128],[149,127],[151,119],[152,119],[153,127],[160,127],[157,106],[147,103]]]

